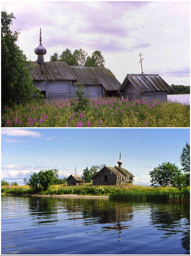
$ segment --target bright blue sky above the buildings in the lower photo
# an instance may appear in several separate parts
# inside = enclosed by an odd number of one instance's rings
[[[134,184],[150,185],[149,171],[163,162],[181,168],[179,157],[189,128],[1,128],[1,179],[17,181],[40,170],[58,169],[61,178],[82,175],[92,165],[122,167]]]

